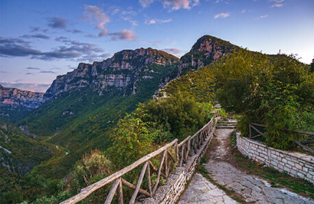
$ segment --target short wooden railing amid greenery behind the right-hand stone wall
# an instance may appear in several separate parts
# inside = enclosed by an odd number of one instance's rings
[[[266,127],[266,126],[265,125],[261,125],[261,124],[256,124],[256,123],[251,123],[249,125],[249,134],[250,134],[250,138],[251,139],[257,138],[257,137],[260,137],[260,136],[264,136],[264,133],[261,130],[259,130],[258,127]],[[252,129],[254,129],[258,134],[253,136]],[[312,133],[312,132],[298,131],[298,130],[289,130],[289,129],[286,129],[285,131],[290,131],[290,132],[305,134],[305,135],[309,135],[309,136],[314,136],[314,133]],[[293,139],[293,142],[295,142],[295,144],[298,144],[299,146],[301,146],[302,149],[304,149],[305,151],[309,151],[309,152],[314,154],[314,150],[309,148],[309,146],[305,145],[305,144],[314,143],[314,140],[308,140],[308,141],[304,141],[304,142],[299,142],[298,140]]]

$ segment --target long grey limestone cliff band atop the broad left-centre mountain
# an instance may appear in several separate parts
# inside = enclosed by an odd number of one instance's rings
[[[167,66],[178,63],[178,58],[156,49],[123,50],[115,53],[112,58],[93,64],[80,63],[77,68],[66,75],[58,76],[44,95],[44,101],[53,99],[61,92],[75,88],[91,88],[99,94],[117,88],[122,90],[130,84],[136,89],[138,73],[147,71],[142,76],[149,79],[147,66],[156,64]]]

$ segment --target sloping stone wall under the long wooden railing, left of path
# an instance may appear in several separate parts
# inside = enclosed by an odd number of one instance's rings
[[[182,164],[182,167],[177,167],[169,175],[165,185],[158,187],[153,198],[140,199],[137,203],[176,203],[184,192],[186,183],[191,179],[200,158],[206,152],[211,138],[213,138],[213,132],[206,138],[197,153],[189,157],[186,164]]]

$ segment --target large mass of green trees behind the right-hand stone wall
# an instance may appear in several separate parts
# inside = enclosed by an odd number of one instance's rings
[[[314,75],[293,56],[269,56],[247,50],[213,64],[217,97],[227,111],[243,115],[238,129],[249,123],[266,125],[265,142],[278,149],[295,147],[293,139],[309,136],[287,130],[314,131]]]

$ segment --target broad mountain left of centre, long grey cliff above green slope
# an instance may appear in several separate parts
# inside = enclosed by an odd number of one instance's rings
[[[38,138],[69,149],[45,174],[61,178],[86,151],[110,146],[111,127],[176,77],[178,63],[164,51],[141,48],[120,51],[102,62],[80,63],[58,76],[44,95],[45,103],[18,123]]]

